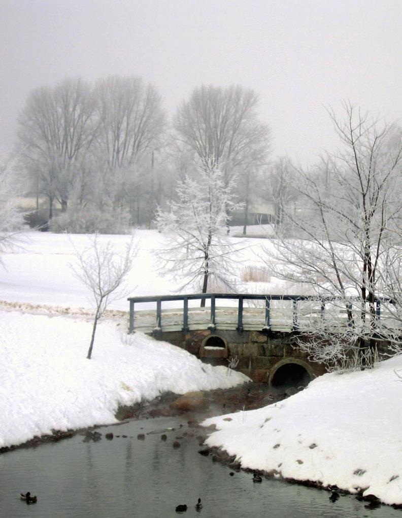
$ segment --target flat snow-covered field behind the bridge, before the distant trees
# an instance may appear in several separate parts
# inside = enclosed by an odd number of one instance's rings
[[[110,240],[116,250],[124,250],[131,236],[99,236],[99,241]],[[134,241],[138,253],[127,277],[126,293],[110,305],[113,309],[128,310],[127,296],[166,295],[177,293],[180,282],[162,275],[154,253],[165,246],[162,234],[156,231],[137,231]],[[251,293],[293,293],[294,286],[270,279],[269,283],[242,283],[242,270],[251,267],[264,268],[262,247],[272,246],[269,239],[232,238],[234,246],[241,248],[237,257],[238,291]],[[47,232],[25,233],[20,245],[2,254],[4,268],[0,268],[0,299],[10,302],[48,304],[71,308],[90,307],[88,292],[74,277],[69,268],[75,262],[74,246],[82,250],[88,246],[84,235],[52,234]],[[182,281],[183,282],[183,281]],[[195,287],[193,293],[198,291]],[[217,291],[220,291],[219,289]],[[300,289],[296,291],[300,291]],[[186,289],[190,293],[191,289]],[[167,307],[167,303],[166,306]]]

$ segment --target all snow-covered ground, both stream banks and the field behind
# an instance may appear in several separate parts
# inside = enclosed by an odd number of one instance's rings
[[[85,236],[71,239],[78,249],[87,244]],[[130,237],[101,239],[123,250]],[[178,287],[155,269],[153,250],[164,246],[163,236],[138,231],[135,239],[139,251],[126,295],[111,306],[115,310],[128,310],[126,296],[175,293]],[[263,267],[255,252],[261,254],[270,240],[241,243],[246,248],[239,254],[239,271]],[[169,344],[140,334],[128,337],[121,313],[101,321],[89,361],[91,304],[69,268],[74,249],[68,237],[27,233],[22,246],[2,259],[0,446],[52,428],[112,423],[119,404],[164,391],[182,394],[245,381]],[[239,285],[252,293],[295,292],[274,279]],[[402,382],[394,369],[402,372],[402,357],[371,371],[325,375],[276,405],[209,420],[219,428],[209,444],[236,454],[244,467],[350,491],[367,488],[366,494],[386,503],[402,503]]]

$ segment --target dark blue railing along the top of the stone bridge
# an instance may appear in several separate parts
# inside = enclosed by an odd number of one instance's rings
[[[186,295],[159,295],[129,297],[130,321],[129,333],[135,329],[144,332],[159,332],[164,330],[181,329],[183,333],[190,328],[215,330],[236,329],[238,333],[248,329],[259,330],[308,330],[315,325],[328,326],[332,330],[347,330],[360,322],[362,311],[361,299],[353,299],[348,303],[338,297],[319,297],[316,295],[267,295],[267,294],[230,294],[230,293],[203,293]],[[189,301],[204,300],[206,307],[189,307]],[[219,305],[220,301],[235,301],[235,306]],[[384,316],[384,325],[390,327],[386,321],[392,320],[392,315],[386,312],[382,315],[381,304],[385,301],[375,299],[376,323],[380,325],[380,318]],[[391,300],[386,299],[388,303]],[[180,302],[182,308],[163,309],[163,303]],[[135,305],[152,303],[155,309],[135,310]],[[366,303],[368,304],[368,303]],[[367,311],[367,314],[369,312]],[[357,317],[357,318],[356,318]],[[372,325],[372,323],[368,323]],[[393,324],[394,327],[399,325]]]

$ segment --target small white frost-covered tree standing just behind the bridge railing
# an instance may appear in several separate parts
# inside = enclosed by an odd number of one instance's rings
[[[233,199],[222,171],[209,164],[199,168],[195,178],[179,182],[169,211],[157,211],[156,225],[168,237],[166,249],[159,252],[163,269],[184,278],[181,287],[198,282],[207,293],[211,279],[231,285],[234,249],[227,236],[227,213]]]

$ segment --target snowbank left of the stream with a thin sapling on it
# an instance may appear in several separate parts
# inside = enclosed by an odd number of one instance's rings
[[[121,327],[124,327],[121,329]],[[101,321],[92,359],[92,324],[65,316],[0,311],[0,447],[20,444],[52,428],[116,422],[118,405],[162,392],[232,387],[248,381],[225,367],[125,326]]]

